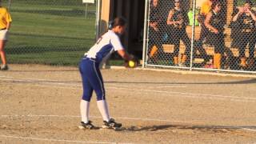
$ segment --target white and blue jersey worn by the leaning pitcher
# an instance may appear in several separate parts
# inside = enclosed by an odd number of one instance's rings
[[[106,34],[103,34],[101,38],[98,38],[98,42],[96,42],[85,55],[86,58],[95,58],[96,62],[102,62],[102,59],[107,58],[117,50],[123,50],[122,43],[118,34],[109,30]]]

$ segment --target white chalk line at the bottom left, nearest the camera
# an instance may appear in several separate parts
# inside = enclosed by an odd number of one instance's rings
[[[54,138],[33,138],[33,137],[20,137],[20,136],[12,136],[12,135],[0,135],[2,138],[17,138],[23,140],[37,140],[37,141],[50,141],[50,142],[72,142],[72,143],[119,143],[119,142],[86,142],[86,141],[73,141],[73,140],[65,140],[65,139],[54,139]],[[121,142],[122,143],[122,142]],[[124,142],[126,143],[126,142]]]

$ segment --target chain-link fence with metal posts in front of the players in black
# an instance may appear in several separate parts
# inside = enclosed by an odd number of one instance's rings
[[[250,1],[149,0],[146,66],[256,73]]]

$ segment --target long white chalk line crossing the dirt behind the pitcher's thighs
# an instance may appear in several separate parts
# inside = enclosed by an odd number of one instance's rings
[[[5,79],[3,79],[5,80]],[[6,79],[9,81],[22,81],[22,82],[33,82],[32,80],[17,80],[17,79]],[[38,79],[34,79],[38,80]],[[42,79],[41,79],[42,80]],[[45,80],[46,81],[46,80]],[[58,83],[56,83],[58,82]],[[63,83],[63,82],[59,82],[58,80],[54,80],[54,82],[41,82],[42,84],[49,84],[51,85],[50,87],[52,87],[52,85],[61,85],[61,86],[82,86],[79,84],[67,84],[67,83]],[[47,85],[46,85],[47,86]],[[46,87],[45,86],[45,87]],[[217,94],[198,94],[198,93],[187,93],[187,92],[178,92],[178,91],[166,91],[166,90],[145,90],[145,89],[132,89],[132,88],[128,88],[128,87],[111,87],[111,86],[106,86],[107,88],[110,89],[120,89],[120,90],[135,90],[135,91],[143,91],[143,92],[150,92],[150,94],[152,92],[155,93],[164,93],[164,94],[178,94],[178,95],[166,95],[167,97],[185,97],[185,98],[202,98],[202,99],[218,99],[218,100],[226,100],[228,98],[228,100],[230,101],[234,101],[234,102],[256,102],[256,98],[251,98],[251,97],[238,97],[238,96],[225,96],[225,95],[217,95]],[[60,88],[60,87],[58,87]],[[70,88],[70,87],[65,87],[66,88]],[[148,87],[147,87],[148,88]],[[72,88],[74,89],[74,88]],[[78,89],[78,88],[75,88]],[[81,90],[81,88],[79,88],[79,90]],[[182,94],[182,95],[180,95]]]

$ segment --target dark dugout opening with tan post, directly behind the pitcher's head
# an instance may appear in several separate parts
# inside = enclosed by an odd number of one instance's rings
[[[145,0],[102,0],[100,6],[98,35],[106,32],[110,20],[126,18],[127,30],[122,36],[122,43],[130,54],[142,58]]]

